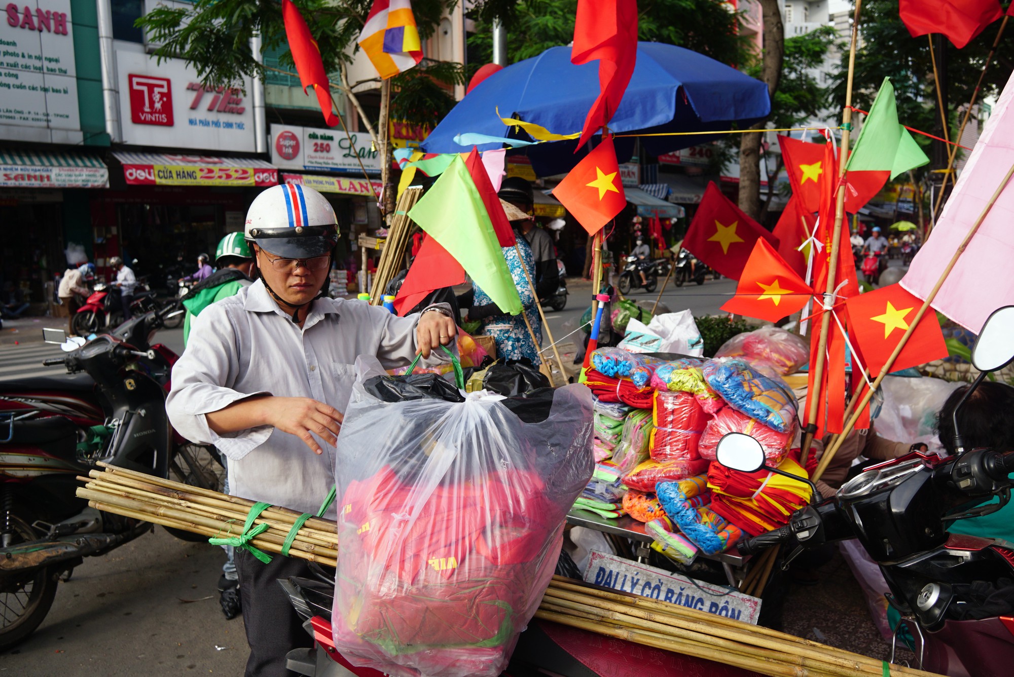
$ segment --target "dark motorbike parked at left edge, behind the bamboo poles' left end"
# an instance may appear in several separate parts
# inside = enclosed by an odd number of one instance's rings
[[[91,341],[60,342],[68,376],[31,376],[0,386],[0,650],[29,635],[53,604],[58,581],[85,556],[136,538],[151,525],[90,508],[77,475],[105,462],[219,491],[217,451],[188,443],[169,424],[165,395],[176,356],[144,350],[160,325],[152,310]],[[137,343],[131,343],[131,338]],[[169,530],[196,540],[187,532]]]

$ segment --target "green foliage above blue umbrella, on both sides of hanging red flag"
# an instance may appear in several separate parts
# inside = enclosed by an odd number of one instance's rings
[[[493,53],[493,18],[503,17],[507,57],[511,63],[538,56],[574,39],[577,0],[486,0],[469,14],[476,32],[468,46],[482,65]],[[738,17],[714,0],[642,0],[638,3],[638,36],[700,52],[723,63],[743,63],[746,41],[738,34]]]

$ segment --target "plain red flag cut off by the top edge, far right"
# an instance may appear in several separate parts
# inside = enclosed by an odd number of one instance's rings
[[[1004,10],[999,0],[900,0],[898,13],[913,37],[942,32],[960,50]]]

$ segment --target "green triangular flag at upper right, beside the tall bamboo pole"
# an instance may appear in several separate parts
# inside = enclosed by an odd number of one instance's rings
[[[890,171],[890,177],[928,164],[930,158],[897,122],[897,102],[890,78],[884,78],[870,114],[859,131],[847,171]]]

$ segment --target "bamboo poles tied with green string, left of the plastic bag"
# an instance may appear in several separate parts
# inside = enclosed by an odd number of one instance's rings
[[[165,527],[190,531],[209,538],[238,536],[252,501],[182,484],[100,463],[105,471],[91,470],[79,476],[85,485],[77,496],[88,505],[124,517],[133,517]],[[254,526],[268,529],[254,537],[250,544],[270,553],[280,553],[286,536],[300,514],[288,508],[272,506],[261,513]],[[298,557],[329,567],[338,565],[338,526],[331,520],[311,517],[296,532],[289,549]]]

